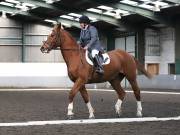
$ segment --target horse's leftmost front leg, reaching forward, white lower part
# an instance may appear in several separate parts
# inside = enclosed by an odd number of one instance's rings
[[[81,78],[78,78],[75,83],[74,86],[72,87],[70,93],[69,93],[69,105],[68,105],[68,118],[71,119],[72,116],[74,115],[73,113],[73,99],[75,97],[75,95],[77,94],[77,92],[79,91],[79,89],[81,88],[81,86],[84,85],[84,81]]]

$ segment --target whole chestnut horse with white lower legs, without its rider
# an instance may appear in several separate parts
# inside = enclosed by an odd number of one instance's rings
[[[125,51],[116,49],[108,52],[110,63],[104,65],[104,74],[99,75],[94,72],[94,68],[86,62],[85,50],[80,48],[76,40],[61,25],[55,25],[51,34],[47,37],[47,41],[43,42],[41,51],[43,53],[50,52],[53,48],[60,47],[62,56],[65,60],[69,78],[74,85],[69,93],[68,118],[72,118],[73,99],[77,92],[81,93],[84,102],[89,110],[89,118],[94,118],[94,109],[91,106],[89,95],[85,88],[85,84],[101,83],[109,81],[113,89],[117,92],[118,100],[115,104],[115,110],[118,116],[121,114],[121,104],[125,97],[125,91],[121,87],[121,81],[127,78],[132,86],[134,95],[137,100],[137,116],[142,116],[140,89],[136,81],[136,69],[140,70],[148,78],[151,78],[144,66],[141,65],[133,56]]]

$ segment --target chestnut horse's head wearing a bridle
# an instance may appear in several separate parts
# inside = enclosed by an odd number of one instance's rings
[[[61,24],[57,24],[54,26],[51,34],[48,35],[47,40],[43,41],[43,45],[40,48],[42,53],[49,53],[52,49],[56,49],[60,46],[60,30]]]

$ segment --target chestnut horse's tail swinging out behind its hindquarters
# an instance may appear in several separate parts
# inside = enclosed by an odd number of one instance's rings
[[[153,78],[153,75],[150,74],[145,68],[144,68],[144,65],[141,64],[136,58],[134,58],[135,62],[136,62],[136,66],[137,66],[137,69],[139,71],[141,71],[145,76],[147,76],[149,79],[152,79]]]

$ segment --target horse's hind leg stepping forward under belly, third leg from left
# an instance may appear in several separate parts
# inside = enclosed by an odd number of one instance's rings
[[[115,110],[116,110],[116,114],[118,115],[118,117],[120,117],[120,115],[121,115],[121,104],[122,104],[122,101],[124,100],[124,97],[126,94],[120,84],[121,81],[123,80],[123,78],[124,78],[124,75],[121,75],[110,81],[110,84],[112,85],[113,89],[118,94],[118,100],[115,104]]]

